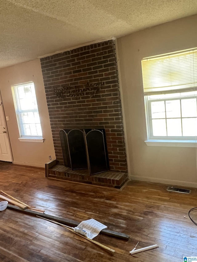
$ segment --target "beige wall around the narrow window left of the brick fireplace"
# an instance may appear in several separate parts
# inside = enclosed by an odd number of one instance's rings
[[[20,142],[17,119],[11,92],[11,85],[33,81],[40,115],[43,143]],[[11,150],[14,163],[30,166],[43,166],[55,158],[52,133],[50,128],[49,113],[46,104],[46,96],[40,60],[34,60],[8,68],[0,69],[0,90],[5,115],[10,117],[7,121],[7,129],[10,137]]]

